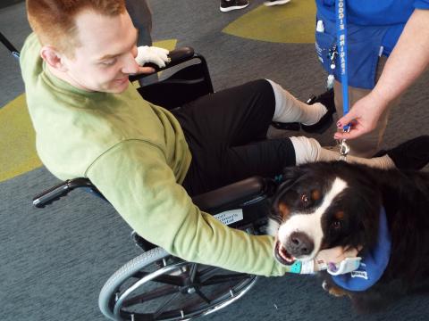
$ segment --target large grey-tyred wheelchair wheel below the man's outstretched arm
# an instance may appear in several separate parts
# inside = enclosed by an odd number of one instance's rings
[[[117,270],[98,305],[112,320],[189,320],[226,307],[256,281],[257,276],[190,263],[155,248]]]

